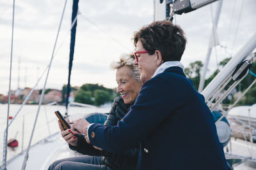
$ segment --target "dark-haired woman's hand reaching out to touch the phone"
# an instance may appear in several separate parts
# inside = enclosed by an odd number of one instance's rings
[[[71,127],[71,131],[74,133],[81,133],[87,135],[87,126],[90,124],[87,122],[84,118],[79,118],[75,121],[70,122],[70,124],[73,124]]]

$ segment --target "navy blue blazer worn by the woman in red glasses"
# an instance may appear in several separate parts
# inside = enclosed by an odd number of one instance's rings
[[[211,111],[180,67],[148,80],[116,126],[88,130],[92,145],[109,152],[140,143],[136,169],[227,169]]]

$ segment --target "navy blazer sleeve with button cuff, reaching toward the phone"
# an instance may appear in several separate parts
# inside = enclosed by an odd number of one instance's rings
[[[131,110],[117,125],[93,124],[88,129],[90,142],[114,153],[135,147],[179,106],[175,96],[175,90],[163,78],[152,78],[143,85]]]

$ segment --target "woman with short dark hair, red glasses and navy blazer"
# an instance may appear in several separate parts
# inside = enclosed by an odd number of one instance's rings
[[[113,127],[77,126],[87,141],[118,153],[140,144],[136,169],[228,169],[211,111],[183,73],[186,46],[180,27],[157,21],[134,34],[143,87]]]

